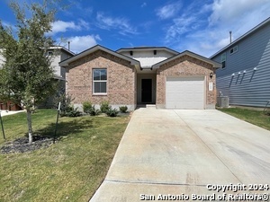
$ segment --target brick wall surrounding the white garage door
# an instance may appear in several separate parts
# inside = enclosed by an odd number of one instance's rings
[[[210,73],[214,75],[210,80]],[[166,106],[166,76],[205,75],[206,109],[214,109],[216,104],[216,76],[211,64],[194,57],[183,56],[170,61],[157,69],[157,107]],[[213,83],[213,91],[209,91],[209,82]]]

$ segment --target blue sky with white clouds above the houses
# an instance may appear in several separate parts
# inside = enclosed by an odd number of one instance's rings
[[[27,3],[40,0],[25,0]],[[23,1],[19,1],[22,4]],[[0,20],[15,27],[9,0]],[[49,35],[77,53],[101,45],[117,50],[167,47],[211,57],[270,17],[270,0],[63,0]],[[269,33],[270,34],[270,33]]]

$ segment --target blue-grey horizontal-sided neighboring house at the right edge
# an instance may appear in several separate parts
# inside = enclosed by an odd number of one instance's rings
[[[265,107],[270,101],[270,18],[210,58],[222,63],[217,91],[230,105]]]

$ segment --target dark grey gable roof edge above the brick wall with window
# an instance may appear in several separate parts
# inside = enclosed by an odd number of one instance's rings
[[[100,45],[96,45],[96,46],[94,46],[92,48],[88,48],[85,51],[77,54],[74,57],[70,57],[70,58],[67,58],[66,60],[61,61],[59,63],[59,66],[68,66],[69,63],[71,63],[73,61],[76,61],[77,59],[79,59],[81,57],[85,57],[85,56],[87,56],[87,55],[89,55],[91,53],[94,53],[96,50],[103,50],[104,52],[107,52],[109,54],[112,54],[115,57],[120,57],[120,58],[122,58],[124,60],[130,61],[130,64],[131,65],[137,65],[137,66],[139,66],[139,61],[138,60],[135,60],[135,59],[133,59],[131,57],[126,57],[124,55],[121,55],[120,53],[117,53],[117,52],[115,52],[115,51],[113,51],[113,50],[111,50],[109,48],[104,48],[104,47],[102,47]]]

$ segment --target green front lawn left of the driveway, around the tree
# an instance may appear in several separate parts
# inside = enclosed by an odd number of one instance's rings
[[[36,134],[53,134],[56,115],[56,110],[37,110],[32,115]],[[7,141],[26,135],[25,113],[3,121]],[[56,144],[31,153],[0,154],[0,201],[88,201],[103,181],[128,122],[128,116],[60,118]]]

